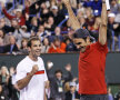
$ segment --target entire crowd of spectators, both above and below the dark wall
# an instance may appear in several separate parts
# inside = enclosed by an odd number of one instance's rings
[[[69,16],[62,0],[13,0],[11,4],[0,2],[0,53],[28,54],[30,37],[37,36],[42,42],[42,53],[64,53],[78,51],[73,43]],[[70,0],[72,10],[83,29],[88,29],[98,40],[101,22],[101,0]],[[110,0],[108,11],[108,48],[120,51],[120,0]],[[13,9],[9,12],[9,9]],[[3,17],[2,17],[3,16]],[[47,88],[49,100],[79,100],[77,78],[71,73],[71,64],[66,66],[67,76],[60,69],[51,73],[52,63],[48,62],[47,73],[50,87]],[[16,69],[1,67],[0,100],[18,100]],[[113,97],[108,89],[109,100]],[[116,100],[119,100],[119,92]]]

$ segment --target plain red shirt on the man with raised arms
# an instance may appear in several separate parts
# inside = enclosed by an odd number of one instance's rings
[[[104,78],[107,44],[99,42],[87,47],[79,57],[79,93],[80,94],[107,94]]]

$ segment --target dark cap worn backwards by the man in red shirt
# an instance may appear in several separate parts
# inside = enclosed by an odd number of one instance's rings
[[[90,36],[90,32],[87,29],[82,29],[82,28],[76,30],[73,37],[74,38],[87,38],[87,37],[89,37],[93,42],[96,41],[96,39]]]

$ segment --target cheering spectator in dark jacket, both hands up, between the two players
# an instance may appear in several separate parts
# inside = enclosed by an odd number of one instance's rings
[[[60,69],[56,70],[54,74],[50,74],[51,67],[48,63],[48,77],[50,80],[50,97],[51,100],[64,100],[64,83],[72,80],[71,64],[66,66],[68,76],[64,77]]]

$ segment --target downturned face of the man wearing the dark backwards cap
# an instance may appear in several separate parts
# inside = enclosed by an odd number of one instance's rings
[[[74,42],[77,49],[80,50],[80,52],[84,52],[86,47],[90,43],[90,40],[88,40],[88,38],[87,38],[87,40],[84,40],[82,38],[77,38],[77,39],[73,39],[73,42]]]

